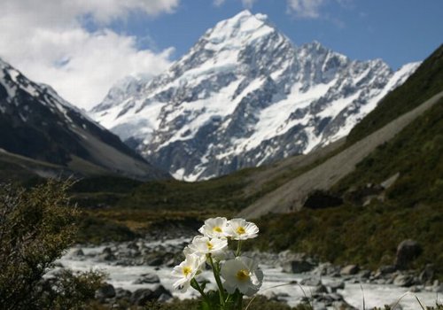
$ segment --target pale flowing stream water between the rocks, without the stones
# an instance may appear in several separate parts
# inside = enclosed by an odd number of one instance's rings
[[[168,240],[167,242],[153,242],[147,244],[149,246],[170,245],[181,246],[183,242],[189,241],[188,238]],[[71,268],[75,271],[102,270],[108,275],[107,282],[113,284],[115,288],[123,288],[128,291],[136,291],[140,288],[152,288],[156,284],[135,284],[134,282],[144,274],[156,274],[159,276],[160,283],[178,298],[194,298],[198,296],[198,292],[190,289],[181,293],[174,291],[172,284],[175,282],[170,273],[171,267],[152,267],[152,266],[125,266],[116,264],[113,261],[97,260],[97,255],[105,249],[102,246],[82,246],[84,255],[75,255],[79,247],[73,248],[58,260],[63,267]],[[286,301],[290,306],[296,306],[304,296],[312,295],[315,287],[307,285],[299,285],[302,279],[306,279],[311,275],[304,274],[288,274],[282,271],[281,267],[275,267],[268,264],[267,261],[260,261],[260,267],[264,273],[263,285],[259,291],[260,294],[267,296],[277,296],[280,300]],[[203,272],[202,276],[207,280],[212,279],[210,271]],[[344,279],[339,279],[343,281]],[[337,278],[323,277],[322,283],[337,282]],[[345,288],[338,290],[338,294],[342,295],[346,302],[358,309],[370,309],[374,306],[392,305],[398,302],[403,310],[421,309],[416,298],[419,298],[424,306],[434,306],[436,301],[442,300],[442,297],[435,292],[420,291],[408,292],[408,288],[397,287],[392,284],[369,284],[354,283],[355,281],[345,282]],[[285,283],[292,283],[284,285]],[[208,287],[214,284],[208,284]],[[399,301],[400,299],[400,301]]]

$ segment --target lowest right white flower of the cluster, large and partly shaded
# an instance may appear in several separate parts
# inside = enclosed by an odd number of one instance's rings
[[[238,289],[246,296],[253,296],[260,290],[263,281],[263,272],[255,260],[246,257],[237,257],[227,260],[221,266],[221,277],[225,280],[223,287],[229,294]]]

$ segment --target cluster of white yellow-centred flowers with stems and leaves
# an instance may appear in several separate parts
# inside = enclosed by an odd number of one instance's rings
[[[258,236],[259,228],[244,219],[217,217],[207,219],[198,232],[202,235],[184,248],[185,260],[172,271],[178,278],[174,288],[187,291],[191,286],[202,295],[206,308],[241,308],[243,296],[255,294],[263,281],[257,261],[241,255],[242,242]],[[230,251],[229,243],[236,241],[237,251]],[[206,264],[212,267],[218,294],[205,292],[205,283],[196,280]]]

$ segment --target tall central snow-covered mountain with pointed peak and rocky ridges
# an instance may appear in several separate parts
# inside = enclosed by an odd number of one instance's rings
[[[176,178],[254,167],[346,136],[418,64],[392,72],[307,43],[244,11],[206,31],[165,74],[128,78],[92,111]]]

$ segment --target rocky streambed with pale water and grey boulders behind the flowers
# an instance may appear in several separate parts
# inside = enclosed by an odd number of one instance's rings
[[[183,259],[183,247],[189,242],[190,237],[151,236],[128,243],[77,245],[57,265],[58,269],[104,271],[107,285],[97,291],[96,297],[106,304],[143,305],[152,299],[167,302],[173,297],[194,298],[198,292],[192,289],[174,291],[175,279],[170,275],[172,267]],[[371,272],[354,265],[321,263],[292,252],[246,255],[259,260],[263,269],[265,277],[259,293],[290,306],[308,298],[315,309],[361,309],[364,300],[366,309],[397,304],[396,309],[412,310],[419,308],[416,297],[424,305],[433,306],[443,294],[443,284],[431,279],[431,267],[419,274],[393,266]],[[212,280],[209,270],[199,277]]]

